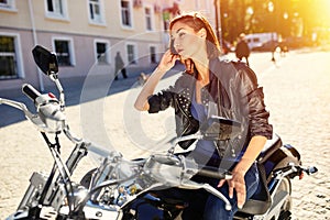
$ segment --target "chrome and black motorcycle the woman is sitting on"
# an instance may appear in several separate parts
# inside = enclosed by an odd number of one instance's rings
[[[187,152],[177,153],[176,146],[187,140],[228,140],[240,134],[240,122],[211,117],[197,133],[178,136],[164,154],[152,154],[145,158],[125,160],[120,152],[100,148],[84,139],[76,138],[69,130],[65,116],[65,94],[58,79],[56,55],[35,46],[32,51],[40,69],[54,81],[59,99],[53,94],[40,94],[31,85],[22,91],[33,102],[36,113],[24,103],[0,98],[0,105],[14,107],[25,114],[41,132],[53,158],[48,175],[35,172],[16,211],[7,220],[19,219],[180,219],[189,201],[162,194],[168,188],[204,190],[212,194],[231,210],[231,204],[216,188],[197,183],[194,176],[230,179],[229,170],[197,164]],[[221,131],[221,132],[219,132]],[[58,134],[64,133],[75,147],[64,162],[61,156]],[[50,135],[54,136],[51,142]],[[72,175],[88,153],[102,157],[97,168],[91,168],[79,183]],[[317,172],[316,167],[302,167],[299,152],[283,144],[278,135],[267,141],[257,160],[261,184],[257,193],[245,202],[234,219],[289,219],[292,209],[290,179],[302,174]]]

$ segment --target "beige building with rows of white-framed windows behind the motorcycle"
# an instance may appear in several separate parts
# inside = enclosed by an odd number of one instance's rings
[[[0,0],[1,90],[48,80],[32,48],[57,54],[61,78],[114,74],[117,52],[129,69],[157,63],[167,47],[166,19],[175,10],[213,18],[212,0]],[[90,73],[95,72],[95,73]]]

